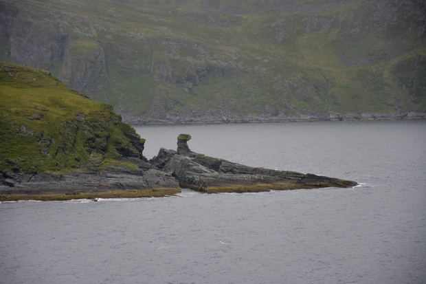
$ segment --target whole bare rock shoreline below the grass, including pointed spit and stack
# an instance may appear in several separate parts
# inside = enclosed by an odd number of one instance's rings
[[[160,149],[152,160],[124,157],[102,164],[97,157],[67,173],[0,173],[0,201],[163,197],[181,188],[203,193],[246,193],[298,188],[348,188],[344,179],[244,166],[194,153],[181,134],[177,151]]]

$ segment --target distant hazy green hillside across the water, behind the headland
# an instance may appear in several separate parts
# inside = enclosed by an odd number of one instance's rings
[[[426,111],[423,1],[0,0],[4,60],[124,120]]]

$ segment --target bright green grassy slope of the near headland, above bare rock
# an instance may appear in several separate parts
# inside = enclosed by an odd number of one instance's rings
[[[0,98],[5,173],[68,171],[93,160],[142,157],[144,140],[110,105],[85,98],[41,69],[0,63]]]

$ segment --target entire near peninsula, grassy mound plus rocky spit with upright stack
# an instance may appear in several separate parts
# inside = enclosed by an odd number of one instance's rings
[[[0,201],[162,197],[181,188],[244,193],[351,187],[356,182],[254,168],[177,150],[143,155],[145,140],[111,107],[48,72],[0,63]]]

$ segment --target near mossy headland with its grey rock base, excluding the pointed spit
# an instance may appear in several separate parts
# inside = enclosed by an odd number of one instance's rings
[[[0,201],[180,191],[174,177],[151,169],[142,155],[144,140],[111,105],[78,94],[41,69],[9,63],[0,63],[0,96]],[[111,190],[113,195],[102,195]]]

